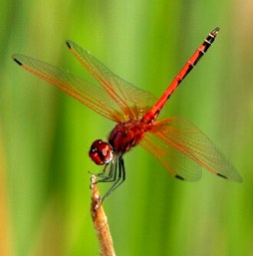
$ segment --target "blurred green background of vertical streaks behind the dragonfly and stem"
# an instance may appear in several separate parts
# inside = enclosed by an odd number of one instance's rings
[[[163,111],[201,128],[242,184],[208,171],[176,180],[144,149],[105,202],[117,255],[253,255],[253,2],[1,0],[0,255],[99,255],[88,157],[115,124],[11,59],[22,53],[94,81],[71,39],[116,74],[160,96],[216,26],[213,47]],[[106,184],[100,185],[106,191]]]

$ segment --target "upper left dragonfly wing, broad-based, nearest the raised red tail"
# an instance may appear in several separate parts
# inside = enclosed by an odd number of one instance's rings
[[[146,91],[140,90],[119,76],[92,56],[88,51],[72,41],[67,41],[74,56],[94,76],[101,86],[125,114],[125,121],[140,120],[156,102],[156,98]]]

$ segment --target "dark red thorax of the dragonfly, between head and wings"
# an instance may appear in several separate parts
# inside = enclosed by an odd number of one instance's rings
[[[145,124],[138,121],[129,121],[118,124],[109,136],[109,143],[116,153],[125,153],[136,145],[145,131]]]

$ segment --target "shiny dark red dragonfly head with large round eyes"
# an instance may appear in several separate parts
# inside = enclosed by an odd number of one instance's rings
[[[98,165],[109,163],[113,159],[113,148],[110,143],[97,139],[91,145],[89,155]]]

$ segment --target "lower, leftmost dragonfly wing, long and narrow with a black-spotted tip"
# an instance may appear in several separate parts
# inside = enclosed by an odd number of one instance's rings
[[[125,120],[124,113],[102,87],[93,85],[68,71],[31,57],[14,55],[13,59],[23,69],[63,90],[101,116],[115,122]]]

